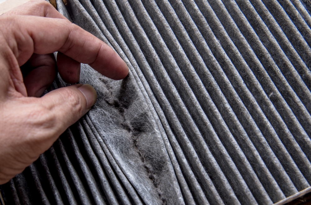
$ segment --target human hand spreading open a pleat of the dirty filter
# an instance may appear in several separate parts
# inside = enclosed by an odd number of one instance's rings
[[[81,84],[38,98],[54,81],[56,65],[65,82],[75,83],[80,63],[115,80],[128,74],[113,49],[44,0],[0,16],[0,184],[38,159],[95,104],[94,88]]]

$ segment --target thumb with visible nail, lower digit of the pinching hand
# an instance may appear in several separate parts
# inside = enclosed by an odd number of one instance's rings
[[[46,114],[53,121],[53,135],[59,136],[86,114],[96,99],[96,91],[91,85],[77,84],[45,94],[40,98],[40,103],[48,109]]]

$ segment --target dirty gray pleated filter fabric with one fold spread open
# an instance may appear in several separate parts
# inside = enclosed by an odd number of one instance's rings
[[[2,203],[266,205],[310,187],[309,1],[57,6],[130,72],[81,66],[95,106],[1,186]]]

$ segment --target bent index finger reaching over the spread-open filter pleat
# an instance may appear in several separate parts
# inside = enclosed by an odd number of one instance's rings
[[[20,64],[25,63],[32,53],[60,51],[80,63],[89,64],[109,78],[119,80],[128,75],[126,63],[112,48],[70,21],[37,16],[4,18],[8,21],[2,26],[12,32],[5,37],[11,42],[12,51],[19,52],[15,55]],[[12,44],[12,40],[16,44]]]

